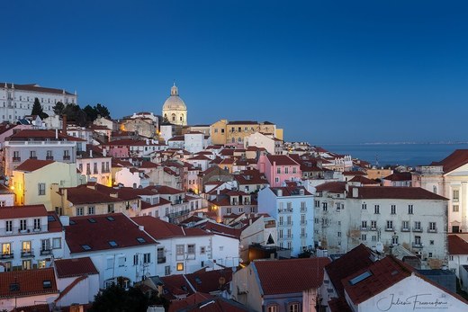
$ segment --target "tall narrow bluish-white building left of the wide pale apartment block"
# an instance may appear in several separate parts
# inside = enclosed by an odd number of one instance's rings
[[[303,187],[266,187],[258,192],[258,212],[276,219],[278,244],[296,256],[314,245],[313,195]]]

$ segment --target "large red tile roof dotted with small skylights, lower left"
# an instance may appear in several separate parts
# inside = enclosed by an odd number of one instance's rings
[[[72,254],[156,244],[153,238],[139,230],[138,225],[121,213],[70,218],[70,226],[65,227],[65,234]],[[139,242],[139,237],[144,241]],[[117,245],[112,247],[110,241]],[[84,245],[91,249],[85,250],[87,248]]]

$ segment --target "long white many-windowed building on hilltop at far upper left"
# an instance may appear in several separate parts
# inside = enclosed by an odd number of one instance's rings
[[[31,114],[34,99],[38,98],[42,110],[49,116],[54,114],[53,107],[58,102],[77,104],[78,96],[65,89],[41,87],[37,84],[14,85],[0,83],[0,118],[14,122]]]

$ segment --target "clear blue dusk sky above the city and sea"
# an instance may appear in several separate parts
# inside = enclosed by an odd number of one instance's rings
[[[312,144],[468,141],[467,1],[4,1],[0,81]]]

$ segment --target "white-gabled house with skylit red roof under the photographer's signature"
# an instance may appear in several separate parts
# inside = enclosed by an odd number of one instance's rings
[[[465,311],[468,301],[393,256],[363,245],[325,267],[321,293],[327,311]],[[331,296],[330,296],[331,295]]]

